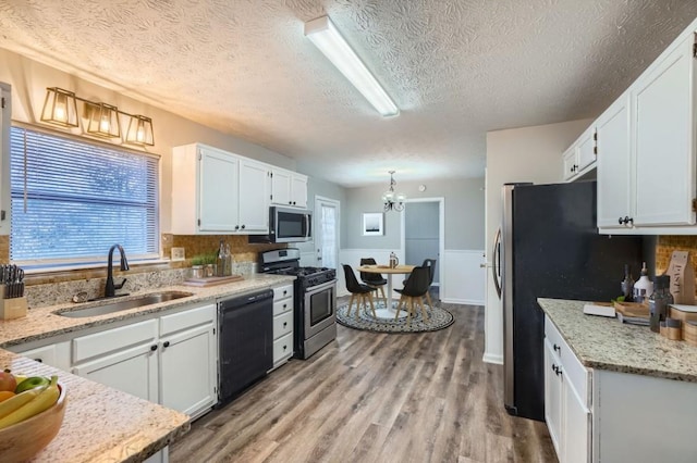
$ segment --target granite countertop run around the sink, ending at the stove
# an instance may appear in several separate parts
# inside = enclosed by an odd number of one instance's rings
[[[29,309],[27,311],[27,316],[25,317],[0,321],[0,348],[9,348],[12,346],[22,345],[24,342],[52,338],[54,336],[63,335],[66,333],[74,333],[81,329],[90,328],[93,326],[108,325],[122,320],[173,310],[182,305],[192,303],[206,301],[213,302],[219,298],[242,295],[244,292],[258,289],[271,288],[284,283],[292,283],[294,279],[294,276],[252,274],[249,276],[245,276],[245,278],[240,281],[210,286],[207,288],[184,285],[152,288],[140,292],[134,292],[123,298],[117,298],[115,300],[127,300],[137,298],[142,295],[147,295],[148,292],[161,291],[186,291],[192,292],[193,296],[175,299],[168,302],[145,305],[142,308],[129,309],[115,313],[98,316],[86,316],[81,318],[61,316],[57,315],[54,312],[98,305],[99,302],[85,302],[81,304],[69,302],[63,304]]]

